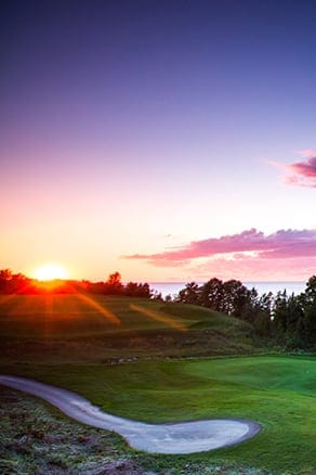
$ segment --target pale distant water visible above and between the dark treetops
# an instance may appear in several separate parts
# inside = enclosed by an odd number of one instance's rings
[[[157,292],[161,292],[162,297],[166,295],[176,295],[179,291],[185,287],[187,282],[152,282],[150,288],[154,288]],[[201,285],[205,282],[197,282]],[[305,282],[243,282],[243,284],[248,288],[254,287],[259,295],[267,294],[272,292],[273,294],[277,294],[279,291],[287,291],[288,295],[292,293],[300,294],[305,291],[306,283]]]

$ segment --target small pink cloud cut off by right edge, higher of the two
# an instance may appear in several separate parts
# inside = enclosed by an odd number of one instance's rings
[[[304,150],[301,152],[304,161],[294,164],[282,165],[272,163],[285,170],[285,182],[294,187],[316,188],[316,151]]]

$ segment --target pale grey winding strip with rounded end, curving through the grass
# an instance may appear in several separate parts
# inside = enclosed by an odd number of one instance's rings
[[[147,452],[201,452],[241,442],[261,431],[255,422],[236,419],[145,424],[107,414],[81,396],[48,384],[10,375],[0,375],[0,384],[45,399],[79,422],[114,431],[130,446]]]

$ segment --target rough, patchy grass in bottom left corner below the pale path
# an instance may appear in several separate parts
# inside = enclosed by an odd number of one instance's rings
[[[115,434],[76,424],[22,393],[0,390],[0,473],[143,473]]]

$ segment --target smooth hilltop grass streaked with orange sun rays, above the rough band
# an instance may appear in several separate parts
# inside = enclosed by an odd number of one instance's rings
[[[80,338],[131,331],[245,328],[239,320],[188,305],[102,295],[0,296],[2,338]]]

